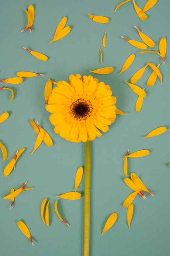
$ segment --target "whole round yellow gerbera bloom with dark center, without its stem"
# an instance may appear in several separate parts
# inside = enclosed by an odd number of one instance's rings
[[[69,83],[57,82],[49,97],[47,111],[54,131],[68,141],[86,142],[102,136],[116,118],[116,97],[109,85],[91,75],[70,75]],[[98,130],[99,129],[99,130]]]

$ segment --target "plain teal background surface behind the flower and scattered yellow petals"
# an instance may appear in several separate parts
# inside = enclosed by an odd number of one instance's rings
[[[3,1],[0,8],[0,79],[16,76],[17,71],[43,73],[44,76],[24,79],[19,85],[1,83],[14,90],[14,100],[10,101],[10,91],[0,91],[0,114],[9,112],[10,117],[0,124],[0,140],[5,144],[8,158],[3,161],[0,152],[0,253],[14,255],[83,255],[83,207],[80,200],[60,200],[58,210],[70,224],[64,225],[56,216],[54,202],[56,195],[74,189],[74,177],[79,166],[85,164],[84,143],[72,143],[60,138],[49,122],[45,110],[44,87],[48,78],[68,80],[70,74],[92,74],[88,70],[113,66],[114,72],[108,75],[94,74],[100,81],[109,84],[117,97],[117,108],[128,115],[118,115],[109,131],[91,143],[91,231],[90,256],[149,256],[170,254],[170,87],[169,87],[169,8],[168,0],[160,1],[147,12],[148,19],[141,21],[132,2],[121,6],[114,13],[119,0],[27,0]],[[147,1],[136,1],[143,8]],[[27,25],[27,15],[23,9],[29,4],[35,7],[35,20],[32,33],[20,33]],[[87,13],[110,18],[109,23],[92,21]],[[71,32],[63,39],[49,44],[61,18],[67,16]],[[168,48],[165,66],[156,54],[140,54],[137,49],[121,39],[140,40],[134,25],[149,35],[155,42],[154,49],[162,37],[167,38]],[[106,48],[102,46],[104,30],[107,33]],[[98,45],[104,51],[100,63]],[[46,54],[49,60],[43,62],[34,58],[22,47]],[[136,54],[132,66],[119,75],[125,59]],[[146,62],[160,63],[163,84],[147,87],[151,69],[147,68],[137,85],[146,88],[147,97],[142,110],[135,111],[137,95],[125,84]],[[93,75],[93,74],[92,74]],[[54,145],[48,148],[44,143],[31,155],[36,133],[29,121],[38,122],[48,131]],[[167,126],[166,133],[143,139],[151,130]],[[16,170],[8,177],[3,169],[13,158],[14,153],[27,147],[16,163]],[[146,195],[146,200],[137,196],[135,210],[128,229],[127,209],[122,202],[132,192],[123,182],[123,157],[130,152],[148,149],[146,157],[129,159],[128,173],[136,172],[154,197]],[[19,188],[25,181],[34,189],[19,195],[9,211],[10,200],[4,200],[11,187]],[[78,191],[83,192],[84,177]],[[50,199],[50,227],[40,218],[42,200]],[[118,220],[108,232],[101,236],[108,216],[118,213]],[[23,220],[34,241],[34,246],[21,233],[17,221]]]

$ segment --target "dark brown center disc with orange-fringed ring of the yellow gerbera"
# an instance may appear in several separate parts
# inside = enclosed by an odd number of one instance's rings
[[[91,115],[92,105],[88,100],[78,99],[77,101],[72,103],[70,107],[70,112],[74,118],[78,120],[83,120]]]

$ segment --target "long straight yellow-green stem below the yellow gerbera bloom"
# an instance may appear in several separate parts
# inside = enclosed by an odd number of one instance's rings
[[[85,185],[84,185],[84,256],[89,256],[90,245],[90,141],[85,142]]]

